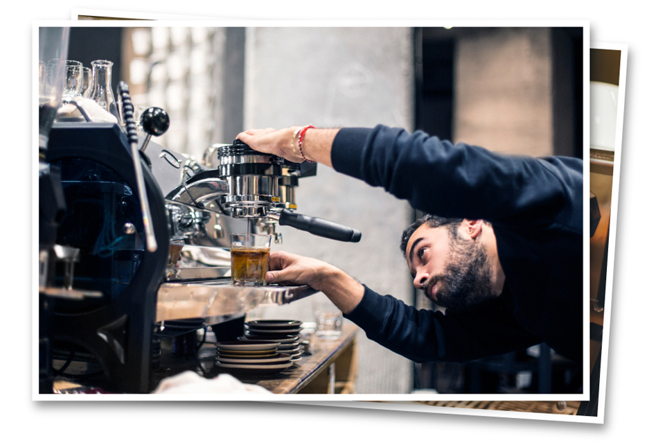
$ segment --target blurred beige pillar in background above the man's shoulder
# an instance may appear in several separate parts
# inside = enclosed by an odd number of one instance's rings
[[[454,141],[553,155],[551,30],[462,31],[455,53]]]

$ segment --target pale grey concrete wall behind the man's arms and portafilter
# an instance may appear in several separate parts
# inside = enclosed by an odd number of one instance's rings
[[[413,128],[413,42],[409,28],[248,28],[245,53],[245,128]],[[318,166],[301,180],[298,211],[362,232],[360,243],[339,243],[278,227],[276,249],[337,265],[379,293],[410,302],[411,278],[399,250],[411,207],[377,189]],[[287,306],[259,308],[248,317],[313,321],[317,294]],[[348,323],[348,320],[345,320]],[[357,392],[404,393],[411,362],[360,335]]]

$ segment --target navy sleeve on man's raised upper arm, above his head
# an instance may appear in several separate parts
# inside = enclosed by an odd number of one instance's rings
[[[549,226],[581,215],[580,159],[501,155],[384,125],[339,130],[331,157],[336,171],[438,216]],[[569,229],[581,231],[581,218]]]

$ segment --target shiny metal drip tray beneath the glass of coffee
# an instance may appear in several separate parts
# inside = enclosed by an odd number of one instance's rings
[[[157,291],[155,322],[247,313],[259,304],[288,304],[318,290],[310,286],[233,286],[231,279],[168,282]]]

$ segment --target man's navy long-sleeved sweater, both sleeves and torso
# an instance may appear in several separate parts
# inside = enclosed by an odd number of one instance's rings
[[[384,125],[339,130],[331,155],[336,171],[416,209],[492,223],[506,275],[502,295],[468,313],[417,311],[365,286],[346,318],[368,338],[416,362],[463,362],[545,342],[582,363],[580,159],[499,155]]]

